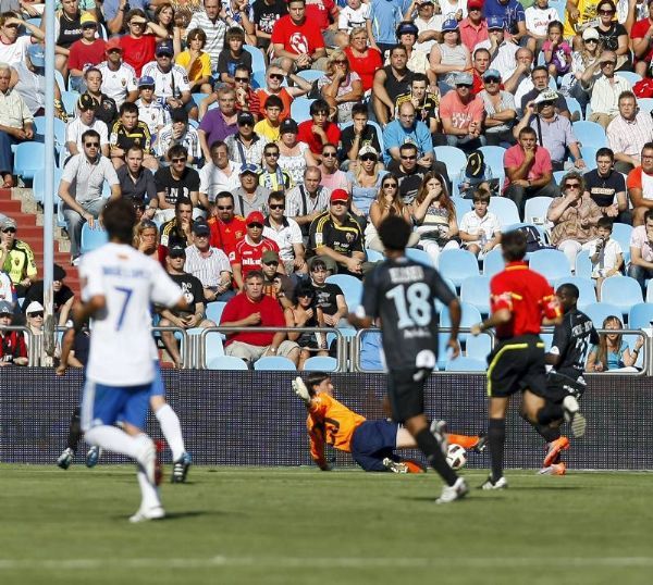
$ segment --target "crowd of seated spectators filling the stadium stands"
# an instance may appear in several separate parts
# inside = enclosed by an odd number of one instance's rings
[[[362,278],[393,214],[435,266],[452,249],[482,265],[520,222],[571,274],[586,253],[597,299],[606,278],[628,274],[643,300],[652,2],[63,0],[54,103],[71,262],[84,232],[101,228],[106,199],[130,198],[135,246],[190,307],[160,324],[222,319],[243,328],[227,356],[295,365],[326,354],[326,339],[246,327],[338,326],[356,299],[328,276]],[[12,147],[42,141],[44,7],[10,1],[0,14],[5,188]],[[0,301],[27,296],[28,316],[42,299],[14,220],[0,225]],[[221,318],[211,303],[226,303]],[[174,336],[163,344],[180,365]]]

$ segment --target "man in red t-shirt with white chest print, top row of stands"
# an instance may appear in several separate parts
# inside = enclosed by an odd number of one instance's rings
[[[286,72],[293,63],[298,70],[323,71],[326,65],[324,39],[319,26],[306,17],[306,0],[288,2],[288,14],[274,23],[271,41]]]

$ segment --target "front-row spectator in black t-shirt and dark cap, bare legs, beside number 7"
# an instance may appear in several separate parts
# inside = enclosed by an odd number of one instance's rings
[[[181,327],[192,329],[194,327],[214,327],[215,323],[205,318],[204,288],[199,279],[184,272],[186,250],[178,245],[172,246],[165,259],[168,275],[181,287],[188,307],[184,311],[174,309],[162,309],[160,311],[161,327]],[[162,332],[161,340],[176,368],[182,365],[180,348],[173,332]]]

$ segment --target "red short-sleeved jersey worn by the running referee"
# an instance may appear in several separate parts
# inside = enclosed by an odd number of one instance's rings
[[[508,262],[506,269],[490,283],[490,309],[494,313],[508,309],[513,319],[496,327],[496,337],[507,339],[539,334],[542,319],[560,313],[557,298],[546,278],[533,272],[526,262]]]

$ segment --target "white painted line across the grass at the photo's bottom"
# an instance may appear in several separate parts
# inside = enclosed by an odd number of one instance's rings
[[[475,569],[520,569],[546,567],[554,569],[583,569],[583,568],[652,568],[652,557],[562,557],[554,559],[535,558],[371,558],[371,557],[341,557],[341,558],[312,558],[312,557],[210,557],[206,559],[0,559],[0,571],[11,570],[66,570],[86,571],[97,569],[209,569],[209,568],[248,568],[268,567],[270,569],[439,569],[455,567]]]

